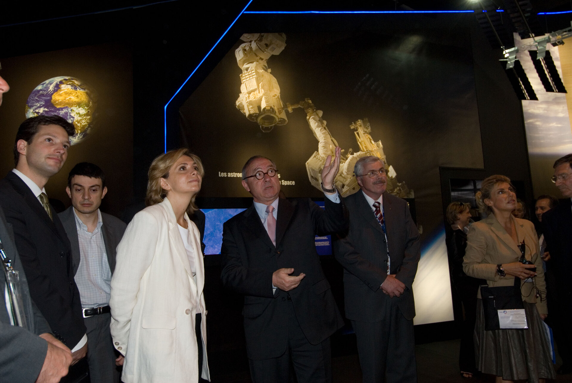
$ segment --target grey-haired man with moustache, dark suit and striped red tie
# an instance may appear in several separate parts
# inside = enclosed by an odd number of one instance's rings
[[[360,158],[361,191],[345,199],[349,230],[333,242],[344,267],[345,317],[358,341],[364,382],[415,382],[413,280],[419,231],[407,202],[386,192],[383,162]]]

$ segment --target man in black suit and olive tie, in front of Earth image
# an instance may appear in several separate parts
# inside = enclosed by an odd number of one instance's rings
[[[24,121],[14,143],[16,167],[0,180],[0,205],[13,226],[30,295],[77,362],[87,349],[80,294],[69,240],[43,188],[65,163],[74,132],[73,125],[59,116]]]

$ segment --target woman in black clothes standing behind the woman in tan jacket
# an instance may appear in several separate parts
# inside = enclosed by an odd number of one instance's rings
[[[450,230],[447,232],[447,255],[451,274],[451,289],[454,299],[463,304],[464,318],[461,329],[461,346],[459,350],[459,368],[462,377],[471,378],[475,373],[475,349],[473,331],[476,318],[476,291],[479,280],[468,277],[463,271],[463,256],[467,247],[468,223],[471,218],[470,204],[452,202],[447,207],[447,221]],[[459,312],[459,311],[457,311]]]

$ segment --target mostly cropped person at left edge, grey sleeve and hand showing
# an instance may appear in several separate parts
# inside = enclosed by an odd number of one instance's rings
[[[1,68],[1,67],[0,67]],[[0,76],[0,105],[2,94],[10,86]],[[14,318],[7,281],[0,277],[0,377],[7,382],[55,383],[66,376],[72,363],[72,353],[50,334],[51,329],[30,298],[26,274],[14,244],[14,234],[0,207],[0,249],[10,259],[19,274],[22,311],[26,325]]]

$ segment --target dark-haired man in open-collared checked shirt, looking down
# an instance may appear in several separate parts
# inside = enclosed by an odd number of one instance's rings
[[[118,382],[119,371],[109,330],[109,296],[116,247],[127,225],[100,211],[107,194],[105,174],[96,164],[82,162],[67,177],[72,206],[59,213],[72,244],[73,275],[80,290],[84,323],[88,329],[88,365],[92,383]]]

